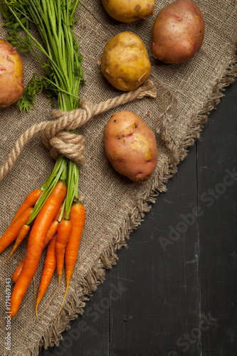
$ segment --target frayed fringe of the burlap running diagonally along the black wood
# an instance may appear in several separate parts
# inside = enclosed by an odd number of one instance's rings
[[[237,76],[237,48],[236,53],[233,56],[231,63],[223,73],[221,80],[214,86],[214,89],[209,95],[204,103],[203,108],[199,112],[199,115],[192,117],[191,125],[189,130],[186,132],[184,140],[181,141],[179,147],[177,147],[174,142],[169,137],[169,132],[166,130],[162,131],[159,129],[159,135],[162,137],[164,142],[167,143],[167,148],[170,152],[167,162],[159,170],[157,174],[149,182],[149,188],[147,193],[140,197],[137,204],[127,219],[125,219],[123,226],[117,231],[115,238],[111,241],[110,246],[102,253],[98,261],[95,263],[93,268],[90,268],[88,273],[83,277],[82,281],[78,285],[78,288],[70,294],[68,302],[65,304],[56,325],[53,323],[48,325],[46,332],[42,335],[41,340],[36,343],[33,350],[31,350],[31,356],[37,356],[39,349],[52,347],[58,345],[63,337],[60,333],[69,327],[70,321],[78,317],[78,315],[83,314],[83,309],[87,300],[91,298],[93,292],[98,288],[98,286],[105,280],[105,270],[112,268],[113,265],[117,263],[116,252],[127,246],[127,240],[129,239],[132,230],[136,229],[142,222],[144,214],[149,211],[152,203],[156,200],[159,193],[166,191],[165,184],[167,181],[173,177],[177,172],[177,165],[179,162],[184,160],[188,151],[187,148],[194,145],[196,139],[199,138],[201,130],[204,128],[207,122],[207,118],[216,105],[223,98],[223,91],[228,85],[234,82]],[[163,128],[165,127],[167,117],[163,118]]]

